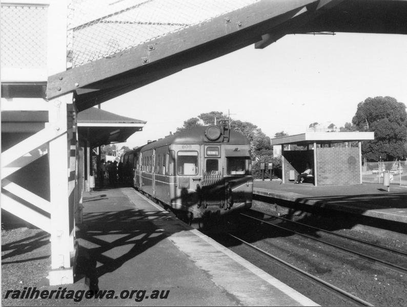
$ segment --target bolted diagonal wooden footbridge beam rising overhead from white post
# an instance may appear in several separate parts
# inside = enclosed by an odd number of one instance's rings
[[[298,9],[318,2],[315,0],[298,0],[271,3],[268,0],[261,0],[198,25],[141,43],[113,56],[101,58],[52,75],[48,78],[47,97],[57,97],[64,93],[76,91],[79,88],[90,87],[97,89],[97,82],[109,80],[110,78],[116,78],[117,80],[117,76],[130,71],[133,71],[134,80],[139,83],[138,85],[133,84],[133,80],[126,90],[134,90],[141,85],[148,84],[181,69],[208,61],[259,41],[262,34],[270,32],[276,26],[275,18],[279,18],[279,23],[283,23],[290,19],[290,16],[281,18],[281,15],[291,11],[295,15]],[[160,62],[159,65],[153,65],[158,62]],[[147,77],[145,79],[146,73],[156,72],[158,68],[164,68],[161,69],[161,72],[164,70],[162,75],[157,74],[152,78]],[[93,87],[94,85],[96,87]],[[123,83],[121,85],[123,86]],[[112,91],[117,93],[117,86],[114,87],[114,89],[104,94],[106,95]],[[79,109],[82,109],[82,107],[79,106]]]

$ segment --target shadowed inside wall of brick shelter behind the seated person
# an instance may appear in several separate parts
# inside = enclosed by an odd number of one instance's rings
[[[307,163],[310,164],[313,168],[314,164],[314,150],[284,150],[283,152],[284,159],[284,182],[290,182],[290,170],[294,170],[295,177],[297,178],[298,174],[303,172]]]

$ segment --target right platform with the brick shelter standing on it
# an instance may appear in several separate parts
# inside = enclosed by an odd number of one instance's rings
[[[407,223],[407,187],[363,183],[346,186],[282,184],[279,180],[255,180],[253,193],[318,208]]]

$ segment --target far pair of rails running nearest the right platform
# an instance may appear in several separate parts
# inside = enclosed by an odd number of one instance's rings
[[[259,212],[259,211],[256,211],[256,212]],[[275,215],[270,214],[270,213],[264,213],[264,212],[261,212],[261,213],[269,215],[272,218],[279,219],[279,220],[282,220],[282,221],[287,222],[287,223],[291,223],[293,225],[300,225],[301,227],[321,231],[321,232],[327,233],[327,234],[329,234],[331,236],[340,237],[342,240],[345,241],[344,242],[345,244],[343,244],[343,243],[342,243],[342,245],[333,244],[333,243],[328,242],[327,240],[322,240],[322,239],[316,238],[314,236],[308,235],[306,233],[293,230],[291,228],[288,228],[287,226],[283,227],[283,226],[280,226],[280,225],[275,225],[275,224],[270,223],[268,221],[264,221],[264,220],[262,220],[260,218],[257,218],[257,217],[254,217],[254,216],[251,216],[251,215],[248,215],[248,214],[244,214],[244,213],[240,213],[240,215],[245,216],[246,218],[250,218],[252,220],[255,220],[257,222],[266,223],[268,225],[271,225],[272,227],[276,227],[276,228],[282,229],[284,231],[288,231],[288,232],[300,235],[302,237],[306,237],[307,239],[314,240],[315,242],[319,242],[321,244],[331,246],[331,247],[333,247],[335,249],[339,249],[339,250],[345,251],[347,253],[351,253],[351,254],[353,254],[353,255],[355,255],[357,257],[363,258],[365,260],[369,260],[371,262],[374,262],[377,265],[383,266],[385,268],[392,269],[392,270],[394,270],[394,271],[396,271],[398,273],[407,274],[407,253],[404,253],[404,252],[399,251],[399,250],[391,249],[391,248],[388,248],[388,247],[384,247],[384,246],[381,246],[381,245],[372,244],[370,242],[366,242],[364,240],[360,240],[360,239],[357,239],[357,238],[352,238],[350,236],[334,233],[332,231],[324,230],[324,229],[317,228],[317,227],[314,227],[314,226],[309,226],[309,225],[306,225],[306,224],[303,224],[303,223],[291,221],[291,220],[288,220],[287,218],[283,218],[283,217],[280,217],[280,216],[275,216]],[[367,249],[367,250],[365,250],[365,253],[363,253],[363,252],[359,252],[359,251],[356,251],[354,249],[343,246],[343,245],[347,245],[349,243],[357,243],[358,244],[357,247],[360,247],[360,244],[363,244],[365,246],[369,246],[370,248],[373,248],[375,251],[372,251],[372,249],[370,249],[370,250]],[[374,257],[374,256],[371,256],[371,255],[367,254],[369,252],[373,253],[373,254],[377,254],[378,250],[384,251],[386,254],[382,253],[380,258]],[[393,258],[393,262],[383,260],[385,258],[389,258],[389,253],[391,253],[391,255],[392,255],[390,258]],[[396,254],[397,254],[397,256],[395,256]],[[400,266],[400,265],[395,263],[395,262],[400,262],[400,260],[401,260],[401,262],[404,262],[406,264],[405,267]]]

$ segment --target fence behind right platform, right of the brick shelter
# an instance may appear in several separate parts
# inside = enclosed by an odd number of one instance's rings
[[[367,162],[362,168],[363,183],[383,183],[383,172],[390,171],[390,183],[407,185],[406,161]]]

